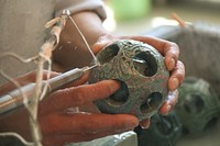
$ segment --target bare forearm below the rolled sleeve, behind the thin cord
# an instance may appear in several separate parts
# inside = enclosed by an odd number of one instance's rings
[[[72,14],[72,18],[86,37],[90,47],[92,47],[100,36],[109,35],[102,27],[101,18],[95,11],[81,11]],[[61,36],[61,45],[54,52],[53,56],[54,61],[59,64],[64,70],[74,67],[82,67],[89,65],[91,61],[91,55],[70,20],[67,21],[66,27]]]

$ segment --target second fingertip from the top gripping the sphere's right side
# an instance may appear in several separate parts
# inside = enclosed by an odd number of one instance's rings
[[[176,67],[173,69],[172,75],[168,79],[168,88],[170,91],[176,90],[185,78],[185,66],[178,60]]]

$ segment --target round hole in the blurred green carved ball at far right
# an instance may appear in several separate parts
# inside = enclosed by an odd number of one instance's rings
[[[184,102],[184,109],[187,113],[200,113],[205,106],[204,100],[199,94],[188,94]]]

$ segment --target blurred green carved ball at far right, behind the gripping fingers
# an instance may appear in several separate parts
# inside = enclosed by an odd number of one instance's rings
[[[220,117],[220,99],[208,81],[187,77],[179,87],[175,111],[184,132],[190,136],[199,136]]]

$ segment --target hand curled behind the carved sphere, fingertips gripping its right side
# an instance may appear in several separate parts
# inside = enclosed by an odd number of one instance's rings
[[[177,88],[183,82],[185,77],[185,67],[184,64],[178,60],[179,48],[175,43],[160,40],[155,37],[148,36],[113,36],[113,35],[103,35],[99,38],[99,41],[94,45],[92,49],[95,53],[98,53],[106,45],[113,43],[118,40],[135,40],[155,47],[164,57],[165,65],[167,70],[170,71],[170,77],[168,79],[168,89],[169,93],[160,109],[162,114],[167,114],[172,111],[178,100],[178,91]],[[141,123],[142,127],[148,127],[150,120],[144,120]]]

